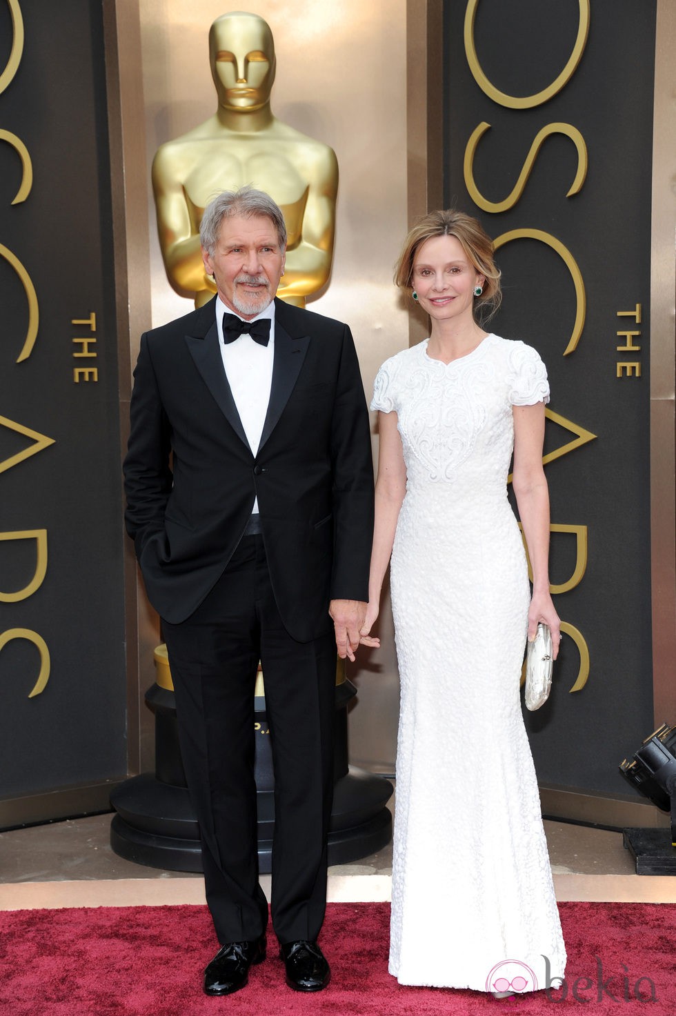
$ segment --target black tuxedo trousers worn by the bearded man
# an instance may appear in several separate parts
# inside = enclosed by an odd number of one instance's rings
[[[263,668],[274,770],[272,927],[281,943],[317,938],[326,903],[332,801],[335,640],[296,642],[274,601],[261,535],[182,624],[163,622],[181,754],[199,822],[206,900],[219,941],[267,925],[258,883],[254,686]]]

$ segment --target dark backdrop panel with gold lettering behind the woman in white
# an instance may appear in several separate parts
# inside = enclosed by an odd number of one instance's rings
[[[464,45],[464,0],[444,5],[444,200],[476,214],[492,237],[538,230],[560,241],[583,280],[587,310],[574,352],[564,356],[575,319],[571,273],[550,246],[507,243],[497,253],[504,303],[491,327],[542,354],[552,387],[550,408],[596,435],[546,467],[552,522],[588,527],[589,557],[579,583],[555,597],[561,619],[589,649],[589,680],[570,693],[579,654],[564,638],[550,703],[528,716],[542,782],[629,792],[617,773],[622,758],[653,727],[650,575],[650,259],[651,152],[656,4],[595,0],[589,37],[568,82],[549,101],[511,109],[488,98],[473,76]],[[525,97],[553,81],[575,43],[576,0],[481,0],[475,22],[479,62],[502,92]],[[465,183],[466,145],[481,122],[473,171],[488,200],[514,187],[538,132],[551,123],[576,128],[589,168],[577,171],[568,137],[549,137],[523,195],[504,211],[483,210]],[[641,322],[621,311],[639,303]],[[619,330],[638,330],[637,352],[617,352]],[[637,363],[627,376],[618,363]],[[551,420],[546,451],[574,438]],[[574,537],[553,533],[551,579],[574,567]],[[490,706],[487,705],[489,708]],[[668,717],[665,717],[668,718]]]

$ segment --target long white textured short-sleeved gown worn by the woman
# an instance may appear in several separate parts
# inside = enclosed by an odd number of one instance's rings
[[[520,707],[530,585],[506,485],[512,405],[538,401],[540,357],[493,334],[448,365],[421,342],[375,382],[371,408],[396,411],[408,475],[390,566],[389,972],[403,985],[532,991],[564,972]]]

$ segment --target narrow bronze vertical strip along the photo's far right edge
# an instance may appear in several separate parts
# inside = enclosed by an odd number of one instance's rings
[[[676,722],[674,285],[676,4],[658,0],[651,251],[651,552],[655,726]]]

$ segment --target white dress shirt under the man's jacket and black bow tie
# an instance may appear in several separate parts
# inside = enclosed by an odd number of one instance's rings
[[[274,359],[274,301],[264,311],[256,314],[254,321],[269,318],[270,337],[267,345],[254,342],[246,332],[234,342],[223,341],[223,315],[233,314],[230,307],[216,299],[216,323],[219,329],[219,345],[223,366],[235,399],[242,427],[254,455],[258,452],[260,435],[267,414],[272,383],[272,362]],[[236,315],[240,317],[241,315]],[[252,512],[258,511],[258,498],[253,503]]]

